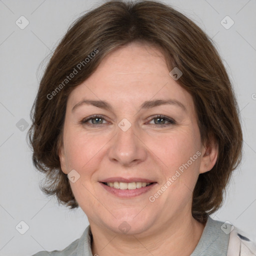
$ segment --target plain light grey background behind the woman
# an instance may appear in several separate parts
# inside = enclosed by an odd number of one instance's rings
[[[102,2],[0,0],[0,255],[63,249],[88,224],[80,208],[69,210],[40,191],[43,176],[32,166],[25,124],[31,123],[29,111],[51,50],[72,21]],[[243,160],[233,173],[223,206],[212,217],[228,220],[256,240],[256,1],[163,2],[213,38],[233,82],[244,135]],[[29,21],[24,29],[15,24],[21,15]],[[226,15],[234,21],[229,29],[220,23]],[[15,228],[21,220],[29,226],[24,234]]]

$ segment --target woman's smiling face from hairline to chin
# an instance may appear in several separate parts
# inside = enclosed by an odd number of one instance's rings
[[[70,93],[61,169],[72,170],[71,189],[91,225],[153,233],[191,214],[209,153],[192,97],[169,72],[157,48],[132,42]]]

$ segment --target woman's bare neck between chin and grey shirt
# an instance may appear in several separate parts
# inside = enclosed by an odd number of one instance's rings
[[[205,223],[189,217],[178,217],[173,221],[163,223],[154,230],[153,234],[118,234],[102,230],[90,223],[93,236],[91,251],[93,255],[110,256],[118,254],[128,255],[162,255],[189,256],[196,247]]]

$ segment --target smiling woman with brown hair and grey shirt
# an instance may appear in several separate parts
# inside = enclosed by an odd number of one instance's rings
[[[241,127],[217,51],[173,8],[109,1],[81,16],[48,63],[32,121],[43,191],[89,221],[51,255],[255,253],[209,217],[240,161]]]

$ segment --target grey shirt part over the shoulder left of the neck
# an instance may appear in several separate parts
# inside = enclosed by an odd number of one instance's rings
[[[80,238],[74,240],[68,246],[62,250],[53,251],[39,251],[32,256],[89,256],[91,255],[90,250],[90,226],[88,225]]]

